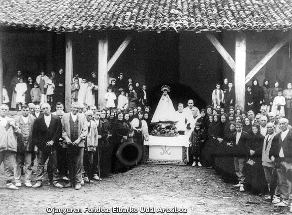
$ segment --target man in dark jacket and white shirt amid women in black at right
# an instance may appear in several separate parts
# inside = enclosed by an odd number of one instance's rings
[[[235,174],[239,180],[239,183],[233,187],[240,188],[240,191],[244,192],[243,186],[245,176],[243,174],[243,167],[246,162],[247,143],[249,136],[246,132],[242,131],[241,122],[236,122],[235,129],[236,133],[234,133],[232,136],[232,142],[227,143],[227,145],[233,147]]]

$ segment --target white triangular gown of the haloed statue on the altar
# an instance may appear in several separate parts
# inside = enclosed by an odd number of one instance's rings
[[[178,121],[169,95],[162,95],[151,122]]]

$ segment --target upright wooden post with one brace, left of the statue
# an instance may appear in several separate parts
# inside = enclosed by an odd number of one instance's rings
[[[106,107],[104,99],[108,87],[108,37],[99,39],[99,109]]]

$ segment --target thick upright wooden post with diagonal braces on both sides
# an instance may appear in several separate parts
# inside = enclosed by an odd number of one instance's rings
[[[235,98],[236,106],[244,110],[245,101],[246,35],[237,33],[235,41]]]

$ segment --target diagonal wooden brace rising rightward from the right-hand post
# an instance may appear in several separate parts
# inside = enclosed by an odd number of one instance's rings
[[[288,41],[289,41],[289,36],[283,38],[279,43],[277,43],[267,54],[266,56],[264,56],[264,58],[257,63],[257,65],[255,65],[255,67],[247,74],[246,78],[245,78],[245,83],[247,83],[248,81],[250,81],[250,79],[259,71],[261,70],[269,61],[269,59],[271,59],[272,56],[274,56],[274,54],[277,53],[277,51],[279,51],[280,48],[282,48]]]

